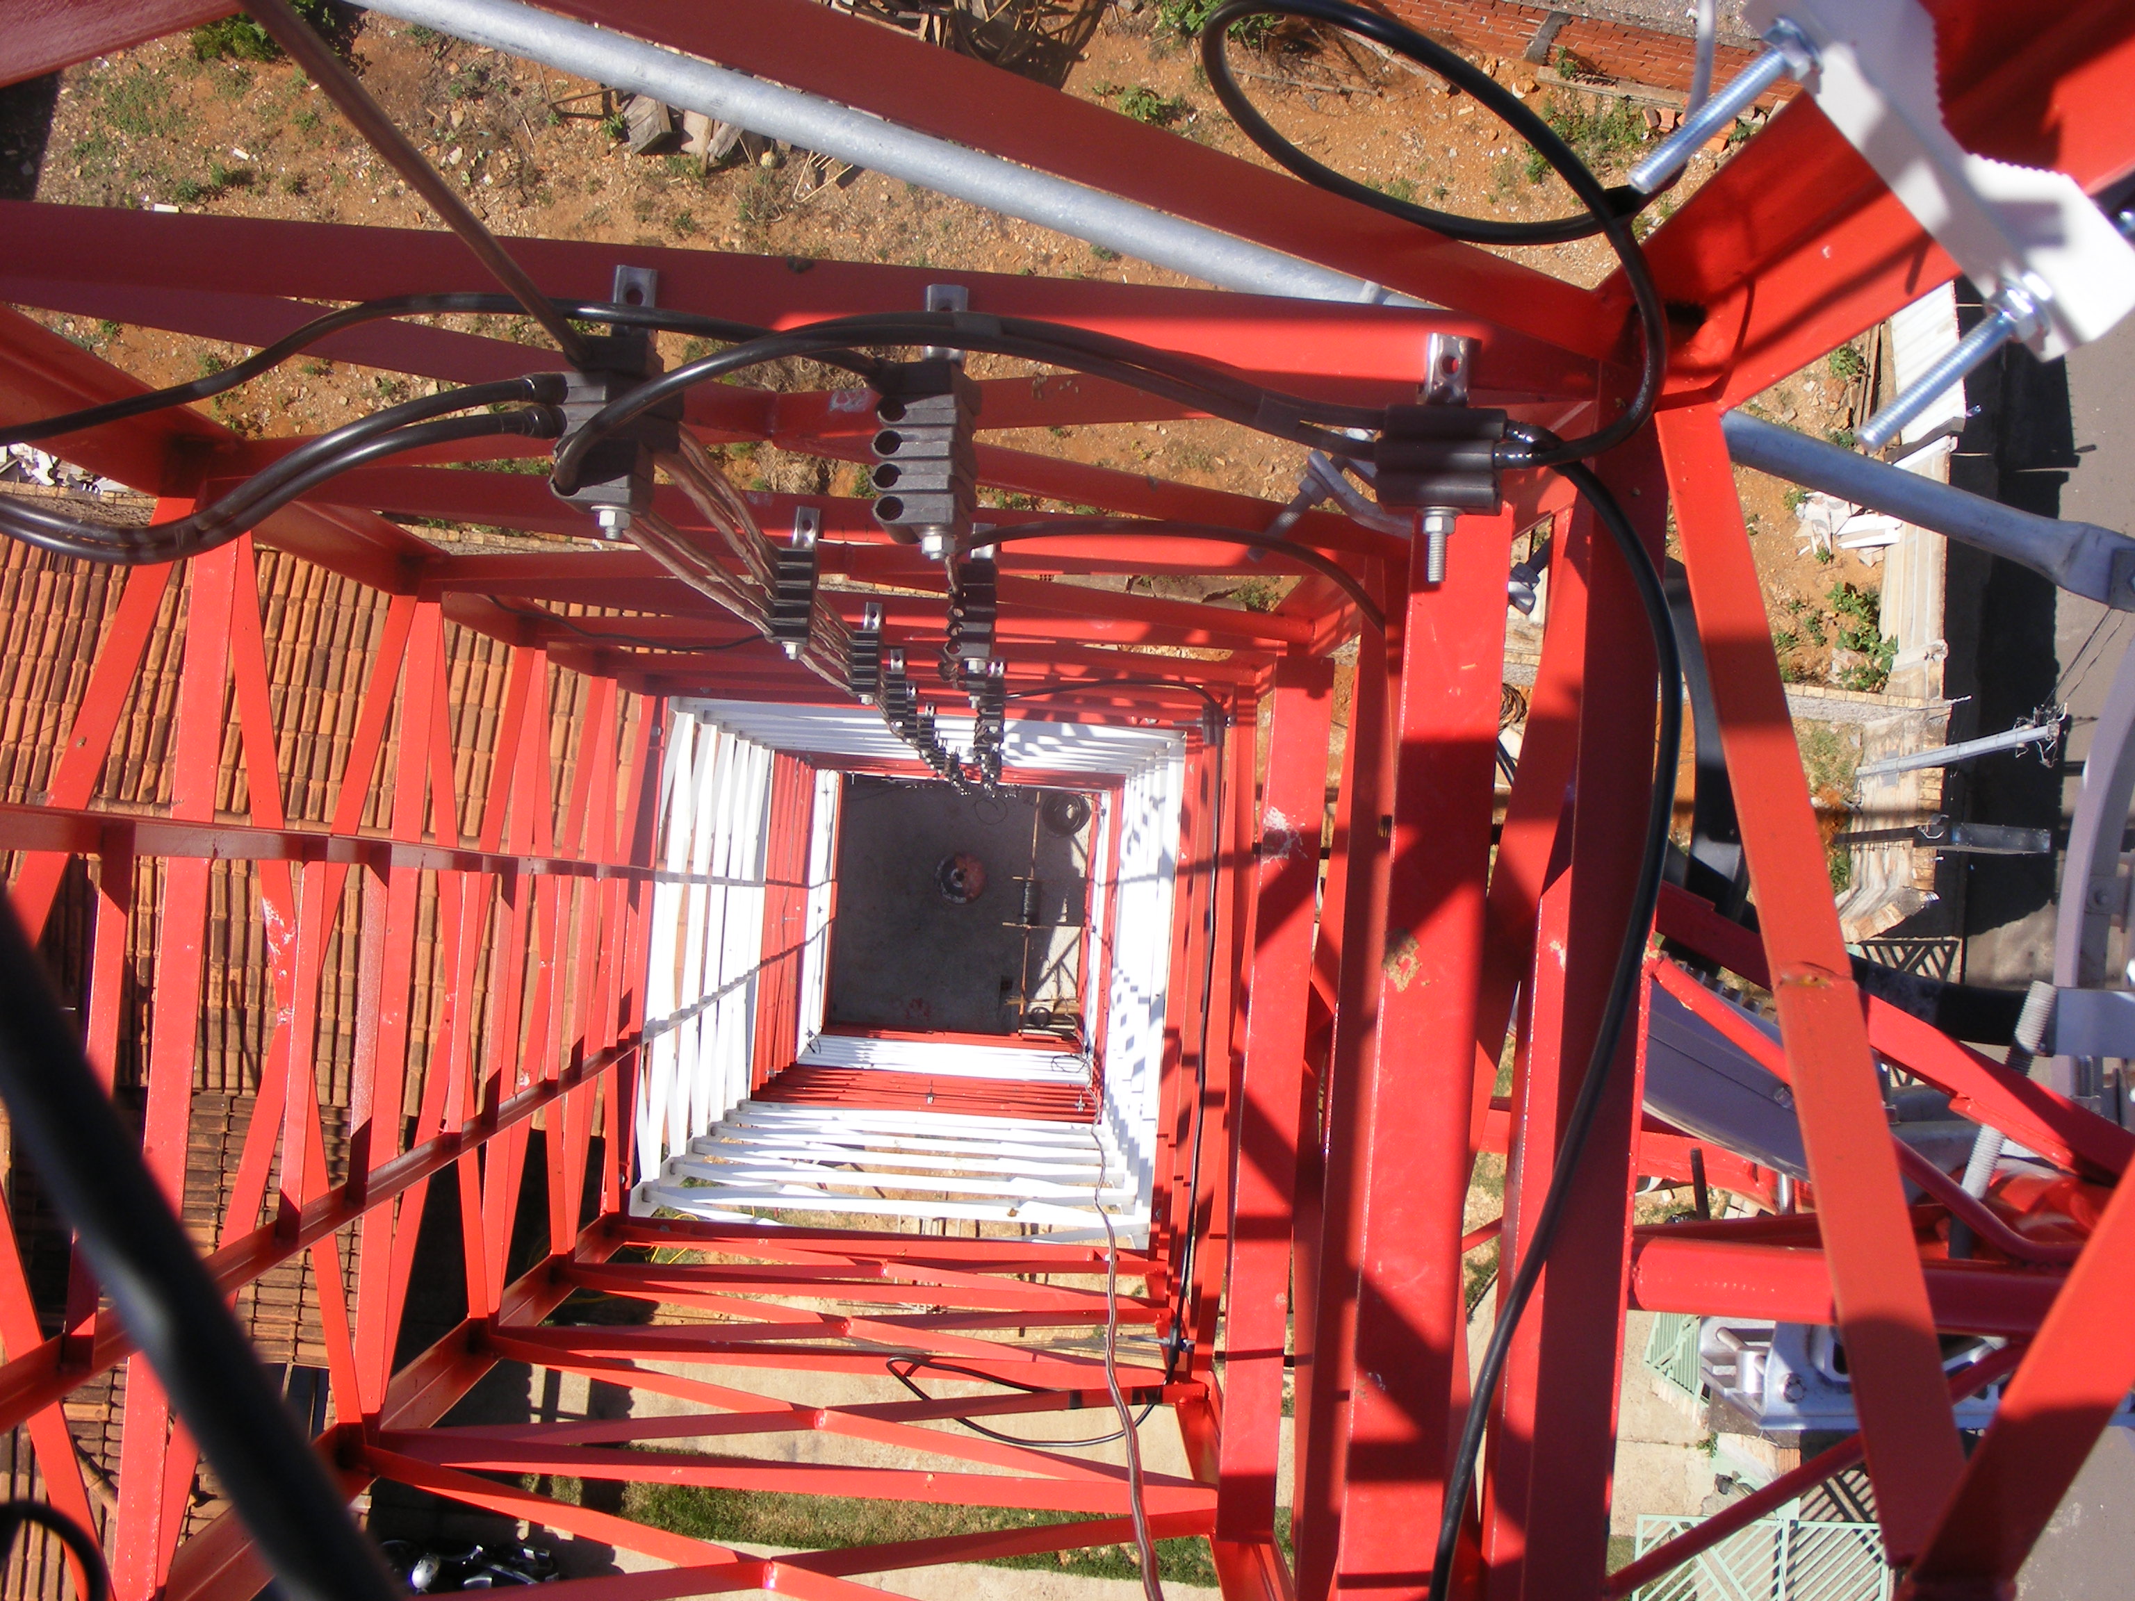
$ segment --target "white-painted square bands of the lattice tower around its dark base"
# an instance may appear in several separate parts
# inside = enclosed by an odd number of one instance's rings
[[[967,734],[959,719],[939,728],[952,745]],[[1119,841],[1117,875],[1100,875],[1091,899],[1091,941],[1106,954],[1104,1099],[1093,1123],[747,1099],[773,749],[910,756],[860,709],[677,702],[662,833],[662,865],[677,879],[655,892],[649,1014],[660,1023],[647,1029],[634,1210],[728,1223],[784,1212],[1027,1223],[1057,1240],[1102,1240],[1091,1195],[1102,1176],[1121,1238],[1146,1242],[1185,741],[1155,728],[1010,724],[1010,766],[1121,777],[1093,841],[1100,862]],[[796,1061],[1089,1084],[1091,1065],[1076,1052],[822,1033],[839,783],[837,771],[816,775]]]

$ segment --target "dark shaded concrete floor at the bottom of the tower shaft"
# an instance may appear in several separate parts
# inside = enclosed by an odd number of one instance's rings
[[[1091,824],[1074,837],[1038,818],[1053,790],[956,794],[946,783],[845,779],[831,1023],[873,1029],[1010,1033],[1023,1003],[1080,997],[1082,884]],[[946,856],[978,856],[986,888],[952,903],[935,884]],[[1023,884],[1042,886],[1025,929]]]

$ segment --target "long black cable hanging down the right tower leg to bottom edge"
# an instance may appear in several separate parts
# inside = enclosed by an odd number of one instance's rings
[[[1539,435],[1539,429],[1537,429]],[[1544,442],[1537,438],[1537,444]],[[1640,963],[1646,950],[1646,933],[1652,929],[1652,909],[1661,897],[1661,867],[1667,860],[1667,828],[1676,809],[1676,768],[1682,760],[1682,660],[1676,653],[1676,630],[1667,615],[1667,593],[1661,589],[1661,572],[1646,551],[1646,542],[1631,527],[1623,506],[1608,491],[1591,467],[1567,463],[1559,472],[1571,480],[1580,497],[1593,508],[1595,519],[1608,529],[1610,540],[1631,570],[1638,589],[1640,611],[1652,632],[1652,651],[1659,662],[1661,711],[1659,739],[1652,756],[1652,796],[1646,807],[1646,839],[1640,852],[1638,886],[1631,892],[1631,916],[1625,920],[1623,944],[1616,948],[1616,969],[1610,976],[1608,1001],[1601,1008],[1601,1025],[1595,1031],[1593,1052],[1586,1059],[1586,1076],[1571,1101],[1565,1119],[1565,1136],[1556,1146],[1556,1166],[1550,1170],[1550,1187],[1535,1217],[1535,1230],[1520,1253],[1505,1296],[1497,1309],[1497,1326],[1484,1347],[1482,1366],[1475,1370],[1475,1388],[1460,1428],[1460,1445],[1454,1452],[1454,1467],[1445,1479],[1445,1503],[1439,1518],[1439,1545],[1430,1563],[1430,1601],[1445,1601],[1452,1584],[1454,1550],[1460,1543],[1460,1522],[1467,1516],[1469,1486],[1475,1481],[1475,1464],[1482,1456],[1484,1430],[1490,1422],[1490,1400],[1505,1370],[1505,1353],[1512,1336],[1520,1328],[1520,1313],[1527,1311],[1541,1268],[1548,1262],[1556,1225],[1563,1219],[1565,1202],[1571,1195],[1571,1180],[1578,1174],[1580,1157],[1586,1151],[1586,1136],[1593,1134],[1595,1116],[1601,1112],[1601,1095],[1610,1084],[1610,1065],[1616,1059],[1616,1044],[1638,999]]]

